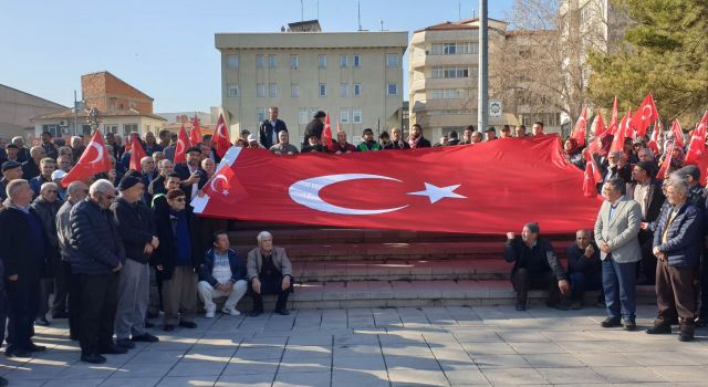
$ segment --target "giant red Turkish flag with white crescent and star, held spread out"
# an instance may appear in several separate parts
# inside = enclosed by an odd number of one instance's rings
[[[496,234],[538,221],[544,233],[568,233],[597,217],[601,200],[582,187],[558,136],[339,156],[232,147],[192,206],[251,221]]]

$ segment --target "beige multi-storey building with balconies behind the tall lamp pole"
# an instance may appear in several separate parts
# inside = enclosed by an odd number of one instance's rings
[[[507,64],[494,55],[501,55],[509,44],[524,44],[507,27],[508,23],[500,20],[488,21],[490,74],[494,73],[497,63]],[[408,54],[410,124],[420,124],[424,135],[431,140],[437,140],[449,130],[458,130],[461,135],[460,130],[466,126],[477,126],[479,20],[445,22],[415,31]],[[513,86],[504,87],[523,87]],[[546,133],[560,129],[558,109],[524,108],[524,103],[510,97],[508,90],[498,88],[490,81],[489,125],[499,128],[506,124],[529,125],[541,121]]]

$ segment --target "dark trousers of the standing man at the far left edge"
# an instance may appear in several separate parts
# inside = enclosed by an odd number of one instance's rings
[[[7,281],[8,346],[25,348],[34,336],[34,317],[39,308],[40,279]]]

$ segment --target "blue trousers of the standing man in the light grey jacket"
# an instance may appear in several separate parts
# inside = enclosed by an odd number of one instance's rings
[[[637,310],[636,262],[617,263],[612,254],[602,261],[602,286],[607,315],[634,321]]]

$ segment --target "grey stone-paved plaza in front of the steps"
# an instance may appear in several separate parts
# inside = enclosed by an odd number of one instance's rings
[[[604,311],[513,306],[300,310],[198,318],[103,365],[80,363],[65,323],[50,349],[0,359],[11,386],[706,386],[706,330],[693,343],[603,330]],[[639,307],[646,328],[654,306]]]

